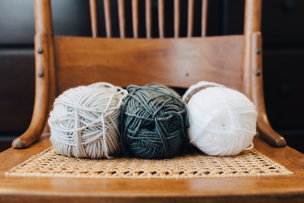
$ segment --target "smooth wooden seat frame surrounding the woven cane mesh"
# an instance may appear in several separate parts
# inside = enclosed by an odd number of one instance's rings
[[[27,149],[0,153],[0,202],[292,202],[304,199],[304,155],[273,148],[260,138],[254,147],[291,175],[202,179],[98,179],[7,177],[5,172],[50,146],[48,135]],[[8,159],[9,157],[9,159]]]

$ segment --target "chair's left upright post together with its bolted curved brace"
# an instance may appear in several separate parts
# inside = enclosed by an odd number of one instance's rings
[[[50,104],[56,98],[55,57],[50,0],[34,0],[35,10],[35,103],[29,128],[12,142],[13,148],[26,148],[40,138]]]

